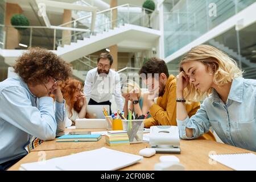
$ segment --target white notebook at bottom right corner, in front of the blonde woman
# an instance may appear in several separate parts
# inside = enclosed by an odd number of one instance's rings
[[[256,155],[252,153],[245,154],[219,154],[209,155],[210,159],[224,164],[236,171],[255,171]]]

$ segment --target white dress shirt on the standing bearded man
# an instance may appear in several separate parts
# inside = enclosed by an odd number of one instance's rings
[[[112,69],[106,77],[98,75],[97,67],[88,71],[84,82],[84,94],[87,102],[92,98],[96,102],[110,101],[114,94],[119,110],[123,109],[120,77]]]

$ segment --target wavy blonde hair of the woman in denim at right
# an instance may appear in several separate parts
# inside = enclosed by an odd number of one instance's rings
[[[199,45],[192,48],[181,60],[180,72],[184,71],[182,65],[191,61],[200,61],[207,67],[207,70],[209,67],[212,67],[214,72],[213,82],[218,86],[227,84],[234,78],[241,77],[243,73],[237,67],[236,61],[226,55],[226,53],[208,45]],[[212,93],[212,88],[206,92],[201,92],[189,82],[188,86],[184,89],[184,98],[188,102],[197,102],[204,100],[210,93]]]

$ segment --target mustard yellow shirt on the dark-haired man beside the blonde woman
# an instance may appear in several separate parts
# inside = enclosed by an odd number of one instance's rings
[[[166,86],[164,88],[164,94],[158,97],[156,104],[150,107],[151,118],[145,119],[144,127],[158,126],[158,125],[171,125],[177,126],[176,122],[176,78],[174,75],[170,75]],[[185,105],[188,117],[196,114],[196,111],[200,109],[200,102],[191,102],[191,104]],[[209,133],[202,136],[204,139],[215,140],[213,134]]]

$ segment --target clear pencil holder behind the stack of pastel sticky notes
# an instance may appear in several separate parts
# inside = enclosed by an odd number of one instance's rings
[[[127,131],[130,143],[143,142],[144,119],[122,119],[123,130]]]

